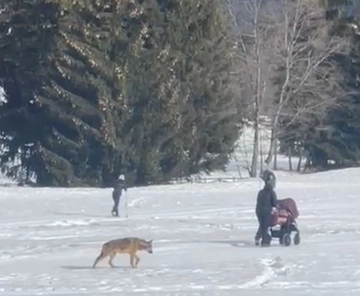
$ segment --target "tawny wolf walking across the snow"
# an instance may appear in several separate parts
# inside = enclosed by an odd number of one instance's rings
[[[147,251],[149,254],[153,253],[152,249],[152,240],[146,241],[145,239],[138,237],[125,237],[120,239],[115,239],[106,242],[103,244],[100,255],[95,259],[93,268],[99,263],[100,260],[109,256],[109,265],[113,265],[113,260],[117,253],[119,254],[129,254],[130,255],[130,265],[132,268],[136,268],[140,262],[140,258],[136,255],[137,251]],[[135,262],[134,262],[135,260]]]

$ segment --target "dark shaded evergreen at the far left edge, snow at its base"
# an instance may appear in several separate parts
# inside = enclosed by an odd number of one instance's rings
[[[0,84],[6,102],[0,104],[1,166],[20,160],[6,173],[17,176],[33,164],[34,144],[44,126],[35,94],[46,77],[44,64],[52,48],[57,5],[48,1],[0,2]]]

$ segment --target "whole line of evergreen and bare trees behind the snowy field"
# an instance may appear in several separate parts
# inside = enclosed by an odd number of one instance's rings
[[[0,0],[1,169],[39,186],[222,169],[249,122],[314,167],[359,160],[356,3]]]

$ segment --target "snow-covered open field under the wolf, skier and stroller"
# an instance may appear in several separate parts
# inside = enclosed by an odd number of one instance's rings
[[[110,217],[108,189],[0,187],[0,296],[360,295],[359,174],[278,173],[302,242],[266,249],[253,245],[259,180],[130,189],[129,219]],[[92,269],[124,236],[154,239],[154,253]]]

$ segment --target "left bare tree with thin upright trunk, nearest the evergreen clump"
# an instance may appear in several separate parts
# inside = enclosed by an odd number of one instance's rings
[[[247,167],[250,177],[256,177],[260,153],[260,116],[263,113],[264,95],[268,86],[271,63],[267,59],[269,43],[266,42],[271,32],[271,24],[265,18],[263,0],[226,0],[229,15],[237,31],[239,76],[241,77],[242,95],[249,101],[249,120],[253,135],[251,162]],[[246,148],[245,148],[246,150]]]

